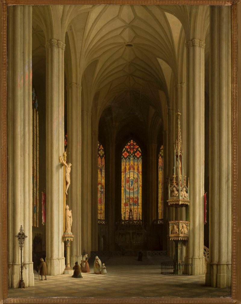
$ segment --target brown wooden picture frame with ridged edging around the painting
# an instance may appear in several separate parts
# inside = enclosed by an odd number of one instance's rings
[[[231,298],[193,299],[14,299],[8,298],[7,263],[7,6],[41,4],[143,4],[232,6],[232,292]],[[0,149],[0,303],[241,303],[241,1],[240,0],[2,0]]]

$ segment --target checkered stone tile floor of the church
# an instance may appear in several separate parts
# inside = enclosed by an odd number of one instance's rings
[[[141,262],[140,262],[141,263]],[[91,266],[91,265],[90,265]],[[83,278],[70,275],[47,276],[35,286],[25,289],[9,288],[9,298],[81,297],[96,299],[141,298],[210,298],[229,297],[229,288],[205,286],[205,275],[161,275],[156,265],[107,265],[106,275],[83,273]],[[44,295],[44,296],[43,296]]]

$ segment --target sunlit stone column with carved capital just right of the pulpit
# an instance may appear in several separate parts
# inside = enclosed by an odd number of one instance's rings
[[[198,39],[187,47],[187,176],[190,178],[190,230],[186,261],[192,263],[192,274],[205,271],[203,257],[204,195],[204,47]]]

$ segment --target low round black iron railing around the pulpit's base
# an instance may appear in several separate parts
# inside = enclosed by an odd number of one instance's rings
[[[192,264],[184,262],[162,262],[162,275],[192,275]]]

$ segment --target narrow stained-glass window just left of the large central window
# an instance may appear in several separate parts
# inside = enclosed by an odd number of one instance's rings
[[[98,219],[105,219],[105,152],[98,142]]]

